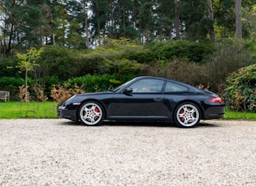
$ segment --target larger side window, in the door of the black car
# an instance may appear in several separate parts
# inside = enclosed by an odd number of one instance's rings
[[[131,86],[132,92],[151,92],[157,93],[162,91],[163,81],[158,79],[141,79],[134,82]]]

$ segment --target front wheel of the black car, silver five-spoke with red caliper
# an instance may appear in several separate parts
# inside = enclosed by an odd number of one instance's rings
[[[84,125],[101,125],[105,112],[102,104],[95,101],[88,101],[81,105],[78,111],[78,117]]]

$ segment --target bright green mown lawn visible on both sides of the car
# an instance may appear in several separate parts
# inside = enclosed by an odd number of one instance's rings
[[[57,103],[54,102],[30,102],[29,104],[20,101],[4,102],[0,101],[0,119],[17,119],[17,118],[57,118]],[[248,119],[256,120],[256,113],[225,111],[224,119],[239,120]]]

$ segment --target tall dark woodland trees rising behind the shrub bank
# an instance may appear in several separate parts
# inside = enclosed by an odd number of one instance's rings
[[[213,4],[215,19],[210,19],[207,2]],[[255,38],[254,13],[255,0],[242,1],[245,38]],[[209,40],[213,27],[215,37],[222,40],[233,38],[236,28],[235,0],[2,0],[0,17],[3,57],[50,44],[68,49],[95,49],[106,37],[126,37],[141,44],[176,39],[201,42]]]

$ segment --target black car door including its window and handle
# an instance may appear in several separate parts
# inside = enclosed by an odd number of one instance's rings
[[[167,119],[168,109],[162,93],[163,80],[141,79],[120,92],[111,104],[112,119]]]

